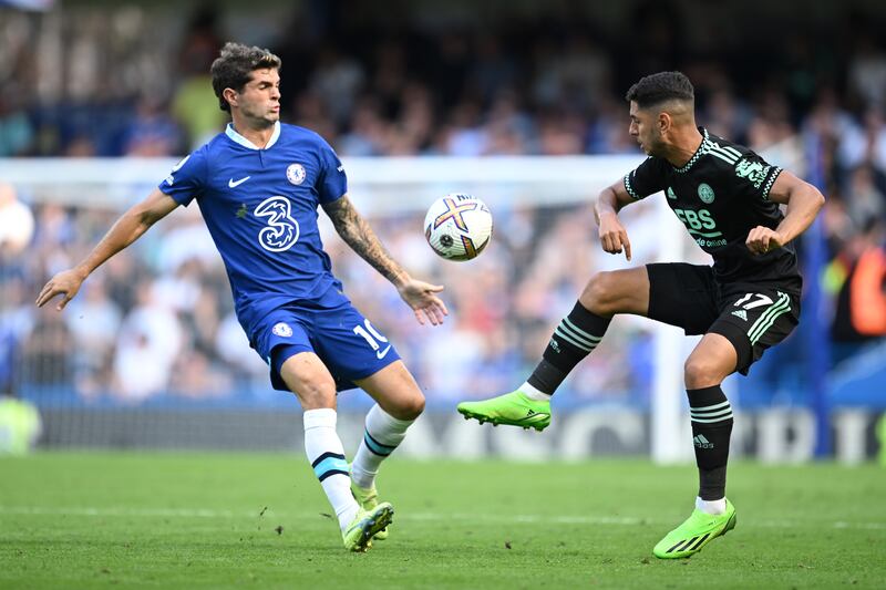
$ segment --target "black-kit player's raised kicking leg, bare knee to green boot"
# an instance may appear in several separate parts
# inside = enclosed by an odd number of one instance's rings
[[[550,424],[550,396],[573,369],[597,348],[612,315],[646,315],[648,310],[646,267],[595,275],[573,311],[554,330],[529,379],[511,393],[482,402],[462,402],[459,412],[481,423],[546,428]]]

